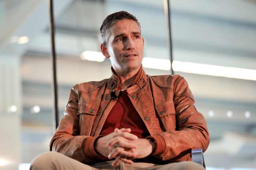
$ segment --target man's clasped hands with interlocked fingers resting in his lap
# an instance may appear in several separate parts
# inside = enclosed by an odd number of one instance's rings
[[[130,133],[130,128],[114,129],[109,135],[98,138],[95,150],[109,159],[116,158],[112,166],[120,162],[132,164],[132,159],[145,158],[155,149],[155,144],[150,139],[138,139]]]

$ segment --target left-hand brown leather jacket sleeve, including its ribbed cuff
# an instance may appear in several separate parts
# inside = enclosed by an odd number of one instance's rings
[[[91,162],[99,155],[94,150],[97,137],[79,135],[78,94],[73,87],[64,116],[50,141],[50,151],[60,152],[80,162]]]

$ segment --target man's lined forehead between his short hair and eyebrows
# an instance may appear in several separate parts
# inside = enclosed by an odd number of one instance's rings
[[[136,21],[130,19],[124,19],[118,21],[110,27],[110,36],[115,36],[118,34],[129,34],[138,32],[140,33],[140,28]]]

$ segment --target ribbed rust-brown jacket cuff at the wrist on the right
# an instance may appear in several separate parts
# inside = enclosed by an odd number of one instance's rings
[[[159,156],[166,150],[166,143],[161,135],[148,136],[146,139],[155,141],[155,150],[150,155]]]

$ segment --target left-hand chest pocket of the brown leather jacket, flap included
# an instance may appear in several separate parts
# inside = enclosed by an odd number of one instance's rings
[[[79,135],[88,136],[91,133],[92,124],[96,113],[98,112],[99,105],[87,101],[81,101],[78,103],[79,116]]]

